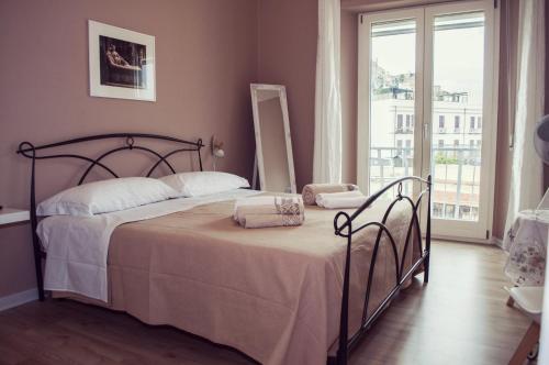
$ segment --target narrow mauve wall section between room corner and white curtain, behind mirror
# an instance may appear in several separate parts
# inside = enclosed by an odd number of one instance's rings
[[[258,80],[285,85],[298,190],[313,176],[317,0],[262,0]]]

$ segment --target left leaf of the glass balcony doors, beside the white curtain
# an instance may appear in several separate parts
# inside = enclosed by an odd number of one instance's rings
[[[366,19],[365,19],[366,18]],[[359,181],[370,193],[395,178],[421,174],[419,150],[415,148],[422,131],[422,43],[423,11],[406,10],[362,16],[369,46],[361,48],[361,58],[369,59],[367,88],[359,90],[366,100],[359,111]],[[417,97],[419,96],[419,98]],[[418,118],[419,117],[419,118]],[[367,143],[365,143],[367,142]],[[405,185],[410,192],[412,185]]]

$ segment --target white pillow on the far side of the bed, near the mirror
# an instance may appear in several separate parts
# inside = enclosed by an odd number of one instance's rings
[[[244,177],[217,172],[180,173],[164,176],[159,180],[172,187],[180,197],[200,197],[249,188],[249,182]]]

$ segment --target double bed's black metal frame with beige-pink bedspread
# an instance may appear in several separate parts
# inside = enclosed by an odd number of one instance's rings
[[[60,146],[113,139],[121,140],[122,146],[97,158],[46,154]],[[172,147],[158,153],[136,140],[164,141]],[[136,133],[44,146],[22,143],[18,152],[32,159],[31,222],[41,300],[46,250],[36,234],[34,172],[38,159],[86,161],[89,166],[81,184],[92,168],[117,177],[104,158],[127,150],[148,152],[155,158],[147,176],[161,165],[175,173],[168,158],[179,153],[194,154],[202,169],[202,147],[201,140]],[[415,200],[403,193],[407,181],[424,187]],[[394,200],[382,200],[393,188]],[[356,210],[307,207],[305,224],[298,228],[237,226],[231,219],[234,199],[250,193],[231,191],[189,209],[119,224],[108,246],[108,299],[67,290],[54,290],[53,297],[125,311],[149,324],[173,325],[265,364],[346,364],[350,350],[411,277],[423,272],[428,281],[430,212],[426,213],[424,244],[419,207],[424,197],[430,207],[430,177],[396,180]],[[46,218],[41,224],[70,223],[67,217],[57,220]]]

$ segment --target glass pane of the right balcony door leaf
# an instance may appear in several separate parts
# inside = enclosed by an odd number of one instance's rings
[[[439,219],[477,221],[481,178],[484,14],[473,12],[437,16],[434,27],[433,214]]]

